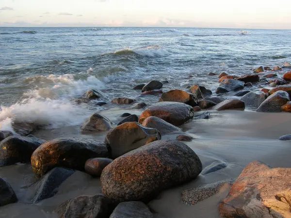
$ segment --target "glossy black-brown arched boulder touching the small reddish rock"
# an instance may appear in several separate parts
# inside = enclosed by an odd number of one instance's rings
[[[55,167],[84,171],[85,162],[90,158],[107,157],[104,142],[93,139],[70,138],[49,140],[32,154],[32,170],[37,177],[45,175]]]

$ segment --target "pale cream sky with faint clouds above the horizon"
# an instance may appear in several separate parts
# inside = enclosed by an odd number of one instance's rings
[[[1,27],[291,29],[291,0],[0,0]]]

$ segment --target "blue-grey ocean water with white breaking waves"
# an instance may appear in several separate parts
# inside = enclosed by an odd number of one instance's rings
[[[0,28],[0,129],[22,121],[45,128],[80,125],[98,110],[77,104],[89,88],[110,102],[151,79],[171,88],[198,83],[214,91],[226,72],[291,62],[291,31],[197,28]],[[194,75],[193,81],[188,76]]]

